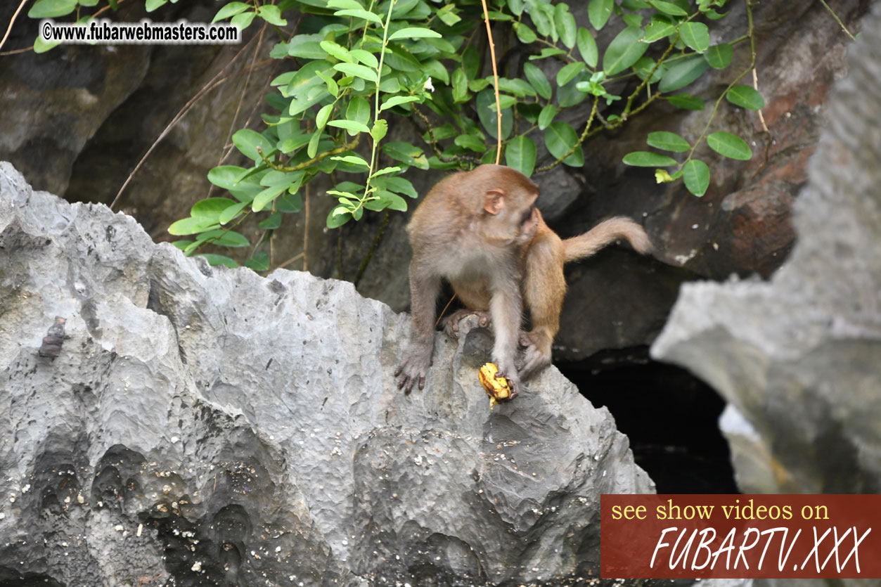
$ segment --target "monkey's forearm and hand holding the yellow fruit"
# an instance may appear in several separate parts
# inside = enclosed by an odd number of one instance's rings
[[[498,376],[507,377],[511,382],[511,398],[516,397],[520,388],[520,375],[515,363],[523,308],[518,281],[513,276],[497,278],[490,301],[490,316],[495,331],[492,359],[499,367]]]

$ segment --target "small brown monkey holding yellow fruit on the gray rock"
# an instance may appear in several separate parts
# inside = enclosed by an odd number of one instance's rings
[[[458,337],[459,320],[476,314],[482,326],[492,321],[492,360],[514,393],[526,377],[551,363],[551,344],[559,330],[566,294],[563,264],[593,255],[625,238],[633,249],[651,249],[648,235],[631,219],[604,220],[581,236],[562,241],[536,207],[538,186],[510,167],[482,165],[450,175],[419,204],[407,233],[414,334],[396,369],[398,387],[407,393],[425,385],[434,346],[434,321],[441,279],[470,309],[450,316],[444,330]],[[532,330],[522,332],[525,299]],[[516,360],[518,345],[526,348]],[[519,365],[518,363],[522,363]]]

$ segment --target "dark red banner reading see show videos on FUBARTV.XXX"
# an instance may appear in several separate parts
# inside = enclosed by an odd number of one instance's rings
[[[603,578],[881,578],[881,495],[618,495]]]

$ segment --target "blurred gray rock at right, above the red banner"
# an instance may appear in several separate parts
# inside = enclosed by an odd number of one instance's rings
[[[768,283],[683,286],[655,357],[736,409],[723,418],[745,492],[881,491],[881,6],[851,49],[791,258]]]

